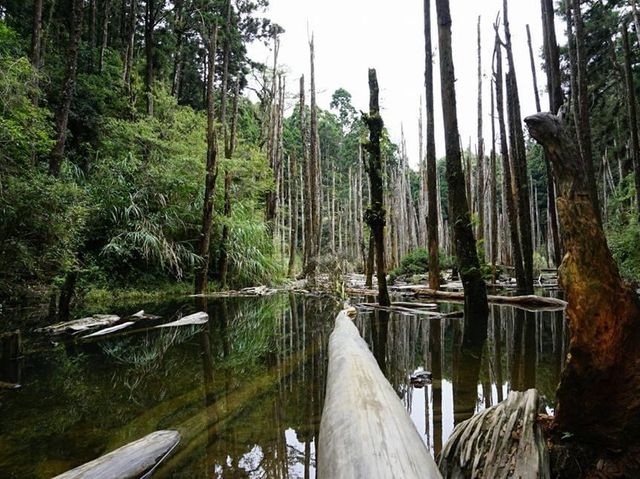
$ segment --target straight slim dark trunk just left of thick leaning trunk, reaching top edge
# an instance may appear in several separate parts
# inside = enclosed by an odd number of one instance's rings
[[[435,115],[433,101],[433,48],[431,46],[431,0],[424,0],[425,92],[427,106],[427,237],[429,241],[429,287],[440,289],[438,244],[438,189]]]

